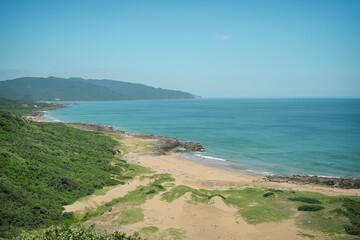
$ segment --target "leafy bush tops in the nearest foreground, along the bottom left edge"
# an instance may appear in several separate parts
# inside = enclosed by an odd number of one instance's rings
[[[11,237],[10,237],[11,238]],[[51,227],[46,230],[24,232],[12,238],[14,240],[55,240],[55,239],[77,239],[77,240],[141,240],[137,233],[126,235],[125,233],[106,233],[94,230],[94,225],[85,228],[79,224],[64,225],[62,227]]]

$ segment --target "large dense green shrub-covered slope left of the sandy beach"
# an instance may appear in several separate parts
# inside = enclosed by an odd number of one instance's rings
[[[3,112],[0,126],[0,237],[63,222],[63,205],[145,171],[113,166],[118,142],[103,134]]]

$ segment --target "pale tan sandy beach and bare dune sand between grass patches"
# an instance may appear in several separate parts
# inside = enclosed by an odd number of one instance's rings
[[[31,119],[34,120],[34,119]],[[42,121],[37,118],[36,121]],[[77,126],[79,127],[79,126]],[[206,166],[200,163],[182,159],[181,153],[169,152],[158,155],[154,152],[159,144],[157,138],[144,138],[122,131],[112,131],[108,127],[91,125],[80,126],[86,130],[102,131],[125,147],[122,157],[128,162],[151,169],[157,174],[171,174],[176,180],[175,185],[185,185],[194,189],[227,190],[230,188],[274,188],[279,190],[319,192],[330,196],[359,196],[358,189],[340,189],[310,184],[290,184],[268,182],[263,177],[245,175],[239,172],[226,171]],[[122,148],[124,149],[124,148]],[[136,178],[125,185],[109,188],[101,195],[92,195],[85,199],[65,206],[65,211],[75,212],[84,216],[92,210],[111,200],[124,197],[139,186],[146,186],[147,178]],[[253,203],[254,206],[257,204]],[[116,223],[118,216],[129,209],[141,209],[143,218],[129,224]],[[295,214],[296,215],[296,214]],[[318,231],[300,228],[295,219],[290,218],[279,222],[249,224],[238,214],[238,209],[225,204],[223,199],[215,196],[208,203],[194,204],[190,193],[166,202],[161,195],[155,195],[145,203],[119,203],[102,215],[94,216],[85,225],[96,224],[97,229],[106,231],[122,231],[126,233],[140,232],[146,239],[306,239],[315,236],[316,239],[328,239]],[[156,231],[145,231],[146,229]]]

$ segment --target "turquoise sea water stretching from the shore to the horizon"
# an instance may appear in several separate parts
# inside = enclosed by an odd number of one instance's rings
[[[360,177],[360,99],[78,102],[44,116],[199,142],[192,158],[248,173]]]

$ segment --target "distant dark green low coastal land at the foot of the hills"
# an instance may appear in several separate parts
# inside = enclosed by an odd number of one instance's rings
[[[10,112],[17,115],[32,115],[36,111],[45,111],[48,109],[63,107],[58,103],[40,103],[32,101],[13,101],[0,97],[0,111]]]

